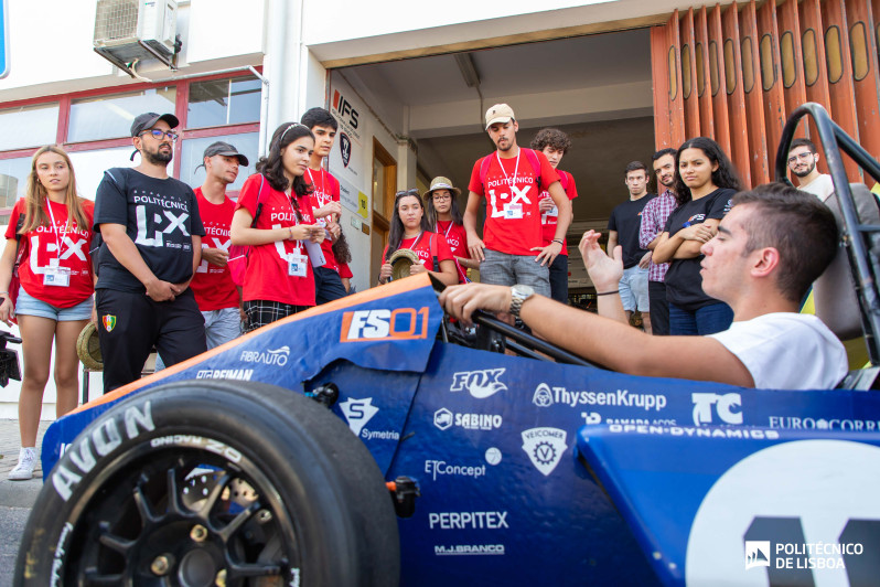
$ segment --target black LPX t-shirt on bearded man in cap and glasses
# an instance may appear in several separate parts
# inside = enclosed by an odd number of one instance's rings
[[[95,232],[100,224],[121,224],[150,270],[180,284],[193,275],[192,235],[205,235],[198,204],[189,185],[159,180],[133,169],[104,172],[95,196]],[[146,291],[143,284],[112,256],[106,243],[98,252],[97,289]]]

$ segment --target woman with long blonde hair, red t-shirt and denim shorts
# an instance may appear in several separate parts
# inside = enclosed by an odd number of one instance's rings
[[[95,284],[88,244],[95,206],[76,193],[71,158],[58,147],[43,147],[31,161],[22,200],[15,202],[0,257],[0,320],[18,317],[24,377],[19,396],[19,462],[9,479],[33,477],[36,430],[55,344],[55,414],[76,407],[79,391],[76,340],[94,316]],[[21,250],[21,286],[13,306],[9,285]]]

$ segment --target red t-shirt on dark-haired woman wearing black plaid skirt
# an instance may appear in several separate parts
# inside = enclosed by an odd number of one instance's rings
[[[235,209],[244,207],[251,216],[257,211],[257,192],[260,190],[260,174],[250,175],[242,186]],[[259,199],[262,210],[257,218],[257,228],[286,228],[297,224],[314,224],[309,196],[297,196],[302,220],[297,221],[293,204],[283,192],[272,189],[268,180],[262,185]],[[245,273],[243,299],[271,300],[292,306],[314,306],[314,274],[312,264],[307,262],[304,277],[288,274],[288,255],[308,255],[300,241],[278,241],[250,248]]]

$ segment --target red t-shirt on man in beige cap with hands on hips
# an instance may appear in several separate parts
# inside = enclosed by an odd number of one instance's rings
[[[544,153],[535,151],[535,154],[540,162],[540,186],[546,188],[559,181],[559,175]],[[532,161],[523,152],[518,159],[516,157],[500,159],[497,151],[486,157],[490,157],[491,161],[486,171],[485,192],[483,182],[480,181],[480,168],[485,158],[477,159],[474,163],[471,183],[468,185],[469,190],[485,195],[487,200],[483,242],[486,248],[498,253],[535,255],[532,247],[541,246],[543,239],[538,210],[540,189]],[[516,183],[512,189],[514,173]]]

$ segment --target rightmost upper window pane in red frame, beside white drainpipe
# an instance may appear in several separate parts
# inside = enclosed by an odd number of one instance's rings
[[[261,89],[260,81],[254,76],[192,84],[186,128],[258,121]]]

